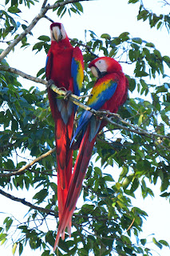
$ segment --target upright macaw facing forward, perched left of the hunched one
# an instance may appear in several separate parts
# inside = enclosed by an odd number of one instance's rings
[[[80,95],[84,78],[84,62],[81,50],[73,48],[61,23],[53,22],[50,26],[51,46],[46,59],[45,75],[47,80],[58,87]],[[57,199],[58,214],[61,221],[69,181],[72,175],[73,150],[70,141],[73,134],[73,119],[77,106],[48,88],[49,105],[55,122],[55,141],[57,153]],[[70,223],[68,232],[70,233]],[[63,234],[64,238],[64,234]]]

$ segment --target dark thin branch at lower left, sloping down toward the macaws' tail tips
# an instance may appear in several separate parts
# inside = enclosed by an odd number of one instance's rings
[[[3,190],[0,190],[0,194],[5,196],[6,198],[10,198],[13,201],[21,202],[23,205],[29,206],[30,208],[32,208],[34,210],[39,210],[39,211],[42,211],[45,214],[57,216],[57,212],[55,210],[49,210],[49,209],[45,209],[45,208],[42,208],[42,207],[39,207],[39,206],[34,206],[32,203],[26,202],[25,198],[16,198],[16,197],[14,197],[14,195],[8,194]]]

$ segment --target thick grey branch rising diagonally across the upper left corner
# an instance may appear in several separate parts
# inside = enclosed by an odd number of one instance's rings
[[[26,34],[30,33],[30,31],[34,28],[34,26],[38,23],[38,21],[41,18],[45,17],[45,14],[48,10],[53,9],[53,8],[58,8],[60,6],[65,6],[65,5],[67,5],[69,3],[73,3],[73,2],[85,2],[85,1],[89,1],[89,0],[67,0],[65,2],[57,2],[51,6],[50,5],[45,6],[46,1],[44,1],[43,5],[42,5],[42,9],[40,10],[40,13],[33,19],[32,22],[30,22],[30,25],[27,26],[26,30],[24,30],[22,32],[22,34],[19,34],[18,38],[15,38],[14,41],[10,43],[10,46],[8,46],[6,48],[6,50],[2,51],[2,54],[0,54],[0,62],[2,62],[2,59],[6,58],[6,55],[9,54],[10,51],[14,49],[14,46],[18,45],[18,42],[22,41],[22,38],[24,38],[26,36]]]

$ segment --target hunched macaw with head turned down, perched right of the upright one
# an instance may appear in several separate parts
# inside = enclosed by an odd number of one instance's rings
[[[126,101],[128,94],[128,79],[122,72],[121,65],[113,58],[101,57],[90,62],[89,68],[91,68],[93,75],[98,79],[91,92],[93,96],[89,98],[87,105],[94,110],[109,110],[110,112],[117,113],[119,106]],[[58,226],[54,250],[57,247],[60,234],[64,232],[75,210],[97,133],[106,123],[104,119],[97,118],[97,116],[94,116],[87,110],[81,114],[80,122],[72,139],[73,142],[77,134],[82,133],[81,145],[65,201],[63,218]]]

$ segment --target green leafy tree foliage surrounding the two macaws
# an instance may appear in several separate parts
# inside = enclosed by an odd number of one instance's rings
[[[18,22],[22,5],[31,9],[36,0],[6,0],[0,10],[0,39],[10,45],[18,35],[26,30],[26,21]],[[67,4],[60,0],[56,3],[63,6],[53,8],[58,16],[80,14],[83,12],[81,2]],[[136,3],[139,0],[129,0]],[[165,25],[168,30],[170,20],[168,15],[156,16],[152,11],[144,9],[140,2],[140,11],[137,19],[149,20],[150,26],[160,29]],[[32,34],[32,32],[30,32]],[[33,34],[32,34],[33,35]],[[84,205],[73,214],[75,230],[72,240],[59,242],[58,255],[152,255],[148,249],[147,239],[139,238],[142,223],[147,213],[132,206],[132,198],[136,190],[141,190],[143,198],[153,196],[148,182],[156,184],[161,180],[161,196],[170,197],[168,193],[170,182],[170,81],[165,69],[170,68],[170,58],[162,56],[152,42],[142,38],[132,38],[128,33],[118,37],[110,34],[101,34],[86,31],[89,41],[79,42],[71,40],[73,46],[81,46],[85,60],[85,87],[86,94],[93,86],[94,78],[87,70],[88,63],[94,54],[102,54],[116,58],[121,63],[131,66],[132,75],[127,74],[129,81],[129,98],[119,110],[121,118],[136,127],[131,130],[118,130],[111,123],[99,134],[93,154],[96,161],[101,161],[101,167],[90,163],[82,188]],[[27,42],[28,34],[22,38],[21,47],[30,46]],[[5,49],[5,44],[3,44]],[[34,43],[36,52],[48,52],[50,38],[42,35]],[[3,50],[4,50],[3,49]],[[2,50],[1,50],[2,52]],[[3,59],[2,66],[9,67],[7,60]],[[45,78],[42,66],[38,77]],[[160,84],[158,85],[158,79]],[[42,158],[28,170],[15,175],[9,175],[26,166],[26,159],[20,160],[19,155],[29,152],[31,158],[38,158],[54,146],[53,118],[49,110],[46,92],[40,91],[36,86],[29,90],[18,82],[18,74],[0,70],[0,186],[1,190],[34,189],[33,202],[27,214],[26,222],[19,222],[10,215],[4,219],[0,227],[0,241],[13,242],[13,254],[18,250],[19,255],[24,252],[28,243],[32,250],[42,249],[42,256],[54,255],[53,242],[56,236],[56,225],[53,230],[46,230],[44,223],[57,218],[57,185],[55,182],[56,163],[55,153]],[[80,110],[78,116],[80,114]],[[116,120],[119,123],[120,121]],[[146,131],[139,134],[138,129]],[[150,134],[147,134],[150,132]],[[159,136],[154,135],[159,134]],[[15,156],[15,157],[14,157]],[[73,160],[77,156],[74,152]],[[17,159],[17,160],[16,160]],[[111,174],[105,174],[106,166],[117,163],[121,170],[118,182]],[[53,178],[54,175],[54,178]],[[2,192],[0,192],[2,194]],[[7,197],[11,198],[9,194]],[[12,198],[11,198],[12,199]],[[15,200],[13,198],[13,200]],[[15,200],[17,201],[17,200]],[[26,200],[20,202],[26,205]],[[17,202],[16,202],[17,204]],[[27,204],[28,205],[28,204]],[[34,207],[36,206],[36,207]],[[39,207],[39,208],[38,208]],[[41,207],[41,208],[40,208]],[[41,221],[40,221],[41,220]],[[132,240],[135,235],[136,241]],[[164,240],[152,242],[160,249],[169,246]]]

